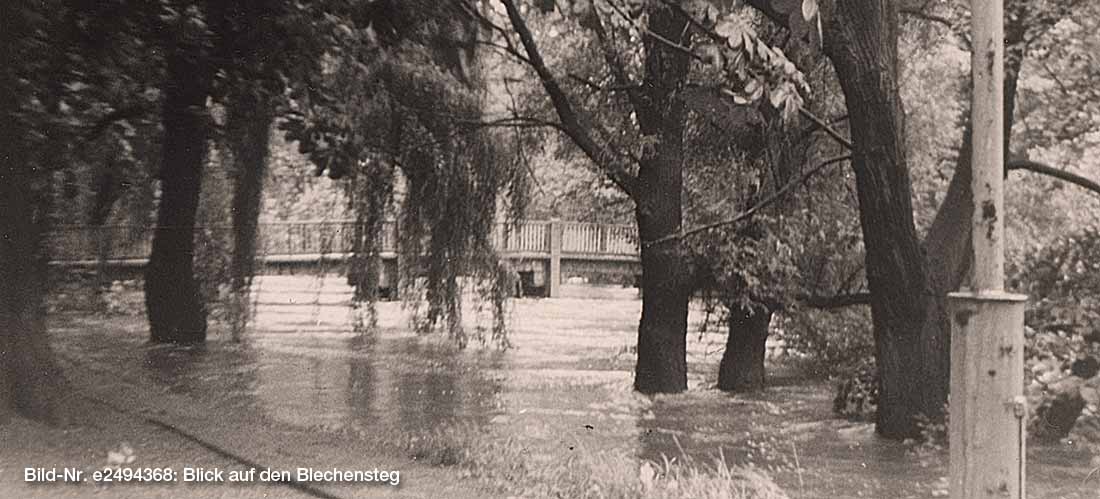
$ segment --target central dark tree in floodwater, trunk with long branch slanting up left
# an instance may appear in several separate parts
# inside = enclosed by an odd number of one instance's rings
[[[598,144],[595,131],[579,114],[569,96],[547,67],[527,21],[513,1],[504,1],[512,27],[532,69],[562,122],[563,131],[584,153],[607,173],[635,202],[635,219],[642,241],[642,311],[638,325],[638,362],[635,389],[641,392],[674,392],[688,387],[686,330],[690,275],[680,242],[649,244],[681,229],[683,189],[683,134],[686,110],[679,99],[691,58],[658,37],[690,46],[691,30],[671,9],[649,4],[646,19],[650,30],[644,35],[644,76],[639,84],[627,80],[622,62],[608,56],[616,84],[637,86],[628,90],[630,107],[637,118],[637,134],[648,141],[636,160]],[[590,7],[586,22],[597,30],[600,13]],[[605,47],[612,53],[614,47]],[[626,156],[628,157],[628,156]],[[626,164],[626,165],[624,165]],[[636,170],[636,173],[634,173]]]

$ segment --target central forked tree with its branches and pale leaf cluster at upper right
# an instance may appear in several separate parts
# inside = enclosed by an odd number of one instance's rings
[[[793,65],[781,53],[759,42],[750,32],[735,30],[736,37],[722,40],[722,45],[706,42],[705,54],[710,56],[695,54],[692,46],[701,34],[700,23],[683,15],[681,2],[642,2],[629,11],[615,2],[576,2],[572,14],[593,32],[605,62],[604,71],[609,75],[608,86],[623,96],[617,98],[622,103],[610,106],[622,115],[612,121],[617,130],[608,132],[600,120],[574,103],[563,79],[550,69],[528,26],[527,15],[517,3],[508,0],[503,3],[510,23],[510,30],[499,29],[507,51],[538,76],[558,115],[556,126],[635,203],[642,265],[635,389],[682,391],[686,389],[688,301],[693,286],[680,236],[688,76],[696,62],[712,65],[721,75],[717,82],[711,81],[707,87],[714,95],[732,96],[738,103],[748,104],[758,101],[767,90],[771,103],[785,112],[801,102],[798,93],[801,75],[795,75]],[[624,57],[614,45],[608,29],[613,26],[610,19],[625,22],[629,27],[626,31],[636,33],[641,41],[637,66],[628,65],[626,60],[631,57]],[[715,22],[714,16],[703,19],[711,25]],[[514,38],[518,38],[518,47]],[[578,77],[570,75],[570,78]],[[583,78],[581,82],[591,84]]]

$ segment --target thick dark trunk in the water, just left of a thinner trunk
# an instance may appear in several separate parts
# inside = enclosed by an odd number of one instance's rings
[[[155,343],[206,341],[207,311],[195,279],[195,218],[207,154],[207,86],[200,56],[169,48],[164,88],[161,202],[145,267],[145,309]]]

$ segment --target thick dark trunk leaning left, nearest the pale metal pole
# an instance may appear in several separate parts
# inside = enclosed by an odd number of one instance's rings
[[[938,362],[944,334],[922,337],[924,254],[913,223],[898,88],[895,2],[840,0],[825,51],[850,117],[853,166],[871,291],[879,409],[887,437],[920,435],[917,417],[942,417],[948,373]]]

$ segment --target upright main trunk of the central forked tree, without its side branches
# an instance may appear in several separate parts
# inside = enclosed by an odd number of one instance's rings
[[[668,40],[684,42],[685,20],[654,5],[649,29]],[[681,229],[683,190],[683,131],[685,111],[674,95],[688,74],[690,60],[647,35],[646,82],[638,126],[647,146],[638,170],[635,193],[638,234],[654,241]],[[644,393],[688,389],[688,300],[690,284],[679,240],[641,248],[641,322],[638,325],[638,363],[634,387]]]

